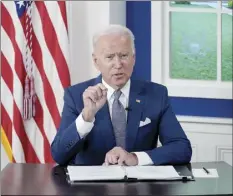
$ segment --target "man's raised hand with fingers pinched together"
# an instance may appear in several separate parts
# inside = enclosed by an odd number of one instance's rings
[[[96,113],[103,107],[107,100],[107,88],[99,83],[89,86],[83,92],[83,119],[87,122],[93,121]]]

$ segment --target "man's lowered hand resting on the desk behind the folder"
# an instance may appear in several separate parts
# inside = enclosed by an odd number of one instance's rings
[[[129,153],[121,147],[114,147],[106,156],[103,165],[138,165],[138,158],[134,153]]]

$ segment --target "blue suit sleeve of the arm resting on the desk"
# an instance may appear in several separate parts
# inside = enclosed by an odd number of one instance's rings
[[[158,124],[161,147],[146,151],[155,165],[182,164],[191,160],[192,148],[169,102],[167,88],[163,93],[162,111]]]

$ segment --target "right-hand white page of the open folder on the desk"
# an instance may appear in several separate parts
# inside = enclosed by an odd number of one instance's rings
[[[124,167],[128,178],[172,180],[181,177],[173,166],[132,166]]]

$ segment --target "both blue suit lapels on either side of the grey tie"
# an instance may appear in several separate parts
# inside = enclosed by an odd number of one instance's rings
[[[101,75],[96,78],[95,84],[101,83]],[[143,83],[131,80],[130,93],[129,93],[129,108],[127,126],[126,126],[126,150],[132,151],[137,137],[138,127],[142,118],[143,106],[145,103],[145,96],[143,95]],[[112,121],[109,113],[108,103],[97,112],[96,122],[98,129],[105,138],[107,149],[112,149],[116,146]]]

